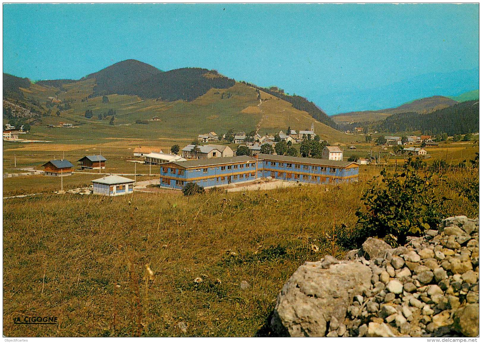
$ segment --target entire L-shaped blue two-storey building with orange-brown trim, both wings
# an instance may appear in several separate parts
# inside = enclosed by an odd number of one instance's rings
[[[188,182],[213,187],[273,178],[310,184],[358,181],[356,162],[259,154],[161,164],[161,187],[182,189]]]

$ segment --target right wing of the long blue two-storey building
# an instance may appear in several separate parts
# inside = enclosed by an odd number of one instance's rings
[[[259,154],[263,176],[283,181],[328,184],[358,181],[358,163],[321,158]]]

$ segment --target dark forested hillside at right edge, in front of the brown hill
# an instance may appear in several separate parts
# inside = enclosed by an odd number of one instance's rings
[[[472,100],[436,110],[428,114],[397,113],[374,128],[382,132],[412,132],[448,135],[479,131],[479,101]]]

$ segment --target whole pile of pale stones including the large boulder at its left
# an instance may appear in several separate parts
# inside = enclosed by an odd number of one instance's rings
[[[441,337],[479,334],[479,220],[450,217],[396,249],[369,238],[347,261],[306,262],[271,319],[280,335]]]

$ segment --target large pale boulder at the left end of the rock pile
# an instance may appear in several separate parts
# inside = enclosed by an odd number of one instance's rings
[[[372,269],[357,261],[328,268],[323,261],[306,262],[278,295],[271,328],[282,336],[325,336],[332,318],[343,322],[353,297],[370,288],[371,278]]]

